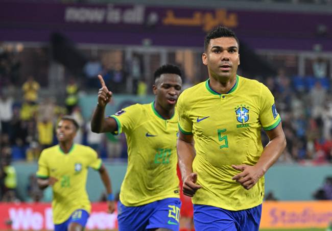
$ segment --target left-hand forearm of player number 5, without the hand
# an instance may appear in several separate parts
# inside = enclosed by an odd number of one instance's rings
[[[177,141],[178,164],[182,181],[193,173],[193,161],[195,159],[194,143],[188,143],[181,139]]]

